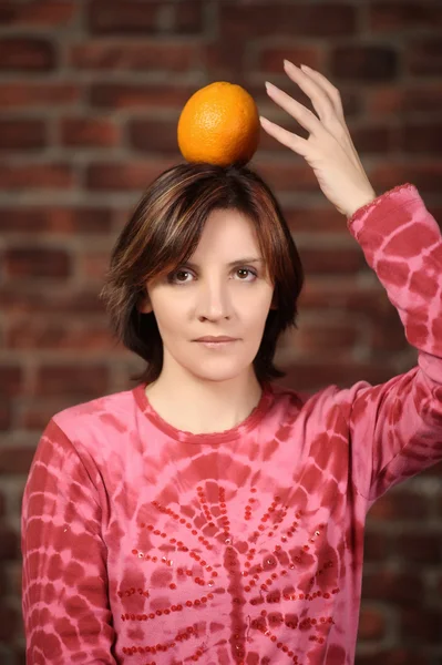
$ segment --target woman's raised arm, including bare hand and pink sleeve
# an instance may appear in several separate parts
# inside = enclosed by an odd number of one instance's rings
[[[273,86],[268,93],[310,133],[301,139],[266,119],[264,129],[302,155],[319,186],[347,216],[397,307],[418,367],[387,383],[359,381],[335,395],[350,431],[352,479],[374,501],[388,488],[442,459],[442,238],[411,184],[376,196],[348,132],[340,95],[319,72],[285,65],[318,115]]]

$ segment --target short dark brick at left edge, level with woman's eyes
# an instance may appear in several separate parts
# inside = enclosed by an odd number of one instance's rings
[[[9,278],[53,277],[63,279],[71,275],[71,258],[64,249],[9,248],[4,253],[4,266],[6,275]]]

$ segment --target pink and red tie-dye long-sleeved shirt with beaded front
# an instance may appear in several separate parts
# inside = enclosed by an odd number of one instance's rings
[[[175,429],[143,385],[56,413],[22,504],[28,664],[353,662],[367,511],[442,458],[442,242],[410,184],[348,227],[417,367],[265,385],[219,433]]]

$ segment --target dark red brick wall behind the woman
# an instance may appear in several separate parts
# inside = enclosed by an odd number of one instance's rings
[[[0,1],[0,662],[24,663],[20,502],[58,410],[130,387],[97,291],[144,186],[181,161],[181,108],[212,81],[244,84],[270,119],[282,58],[341,90],[373,186],[413,182],[442,219],[438,0]],[[306,101],[304,99],[304,101]],[[343,217],[267,135],[255,167],[279,196],[307,272],[300,331],[278,350],[301,390],[410,369],[395,310]],[[441,467],[392,490],[367,530],[358,664],[442,663]]]

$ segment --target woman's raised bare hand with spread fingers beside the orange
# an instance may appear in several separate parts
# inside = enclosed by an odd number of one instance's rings
[[[261,116],[263,129],[305,157],[327,198],[340,213],[351,217],[377,195],[351,141],[339,91],[323,74],[306,65],[300,69],[285,60],[284,69],[310,98],[319,117],[276,85],[266,83],[268,95],[310,135],[302,139]]]

